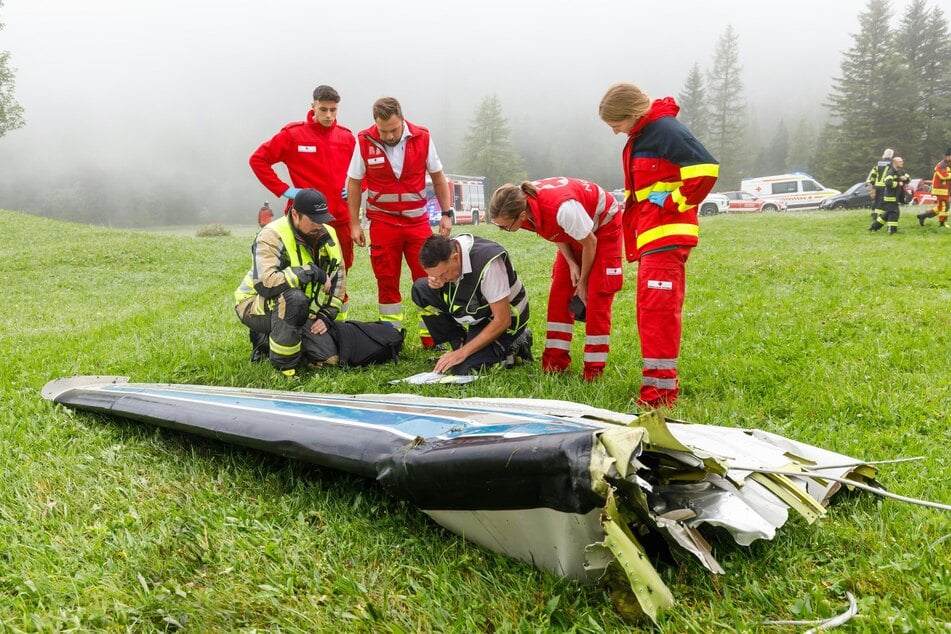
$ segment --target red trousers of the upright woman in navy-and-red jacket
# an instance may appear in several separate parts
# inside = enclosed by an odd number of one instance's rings
[[[637,333],[643,369],[638,402],[672,407],[679,388],[677,359],[690,247],[642,255],[637,266]]]

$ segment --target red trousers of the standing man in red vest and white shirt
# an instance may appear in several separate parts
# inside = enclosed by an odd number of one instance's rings
[[[403,259],[409,266],[413,281],[426,277],[419,263],[419,250],[426,238],[433,234],[429,218],[370,218],[370,264],[376,277],[377,301],[380,319],[394,327],[403,327],[403,296],[400,294],[400,275]],[[420,337],[424,345],[432,345],[429,331],[420,320]]]

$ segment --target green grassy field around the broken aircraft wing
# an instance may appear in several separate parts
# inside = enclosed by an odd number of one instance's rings
[[[951,514],[840,496],[814,525],[731,546],[726,569],[663,566],[678,603],[623,621],[600,587],[560,580],[441,529],[373,482],[40,397],[49,380],[313,392],[557,398],[627,411],[640,376],[634,272],[615,303],[603,381],[537,363],[467,386],[396,388],[429,370],[411,332],[397,365],[287,379],[248,363],[231,293],[251,231],[119,231],[0,211],[0,632],[776,632],[854,594],[849,632],[951,628]],[[951,231],[866,231],[864,211],[717,216],[688,263],[681,400],[673,415],[758,427],[883,465],[903,495],[951,502]],[[554,246],[509,247],[540,355]],[[352,316],[375,319],[360,251]],[[407,313],[415,315],[409,307]],[[412,320],[410,320],[412,321]],[[573,356],[580,360],[581,338]]]

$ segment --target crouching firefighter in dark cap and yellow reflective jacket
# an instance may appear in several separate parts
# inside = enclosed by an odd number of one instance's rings
[[[343,308],[346,270],[331,222],[324,195],[302,189],[288,215],[258,232],[251,270],[234,293],[251,360],[267,355],[288,376],[301,362],[302,330],[326,334]]]

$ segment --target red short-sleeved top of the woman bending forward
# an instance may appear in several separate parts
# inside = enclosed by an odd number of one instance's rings
[[[617,213],[614,197],[592,182],[579,178],[556,176],[532,181],[538,189],[538,197],[527,197],[534,226],[522,225],[522,229],[534,231],[549,242],[575,243],[558,224],[558,208],[568,200],[577,201],[594,221],[592,232],[608,224]]]

